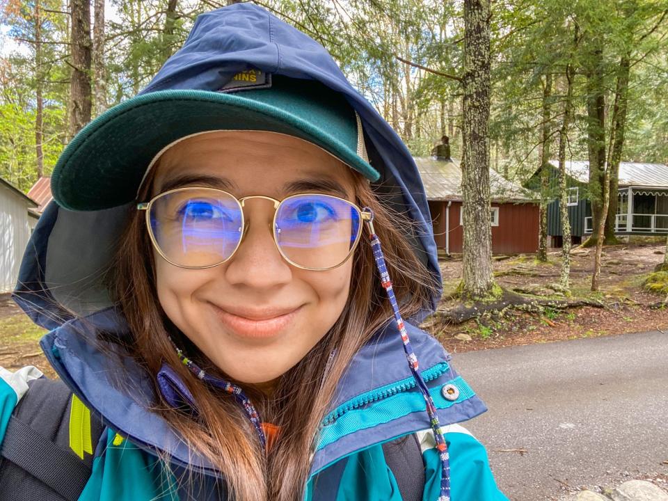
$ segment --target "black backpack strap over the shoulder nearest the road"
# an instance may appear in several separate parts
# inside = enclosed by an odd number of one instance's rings
[[[422,501],[424,493],[424,461],[422,449],[415,434],[383,444],[385,463],[395,475],[401,499]]]

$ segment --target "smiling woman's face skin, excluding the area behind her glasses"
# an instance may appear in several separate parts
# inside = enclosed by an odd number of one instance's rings
[[[354,200],[349,167],[315,145],[271,132],[209,132],[161,156],[152,196],[210,186],[237,198],[277,200],[303,192]],[[225,374],[244,383],[276,379],[305,356],[341,315],[353,260],[327,271],[289,264],[273,240],[269,200],[248,200],[248,231],[230,260],[183,269],[154,250],[157,292],[167,316]]]

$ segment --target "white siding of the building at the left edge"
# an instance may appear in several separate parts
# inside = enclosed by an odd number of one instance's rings
[[[19,276],[31,232],[28,207],[26,199],[0,184],[0,293],[11,292]]]

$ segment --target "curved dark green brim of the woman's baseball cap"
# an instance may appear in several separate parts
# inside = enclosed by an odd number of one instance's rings
[[[75,136],[51,175],[51,192],[66,209],[108,209],[134,200],[146,168],[177,139],[213,130],[261,130],[318,145],[376,181],[380,175],[351,148],[308,120],[241,95],[164,90],[133,97]]]

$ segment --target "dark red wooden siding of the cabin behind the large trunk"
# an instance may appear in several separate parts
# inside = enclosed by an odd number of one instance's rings
[[[447,202],[429,202],[434,239],[445,249],[445,210]],[[538,250],[539,209],[536,204],[496,204],[499,225],[492,226],[492,252],[495,254],[534,253]],[[450,253],[461,253],[463,228],[459,224],[461,202],[450,205]]]

